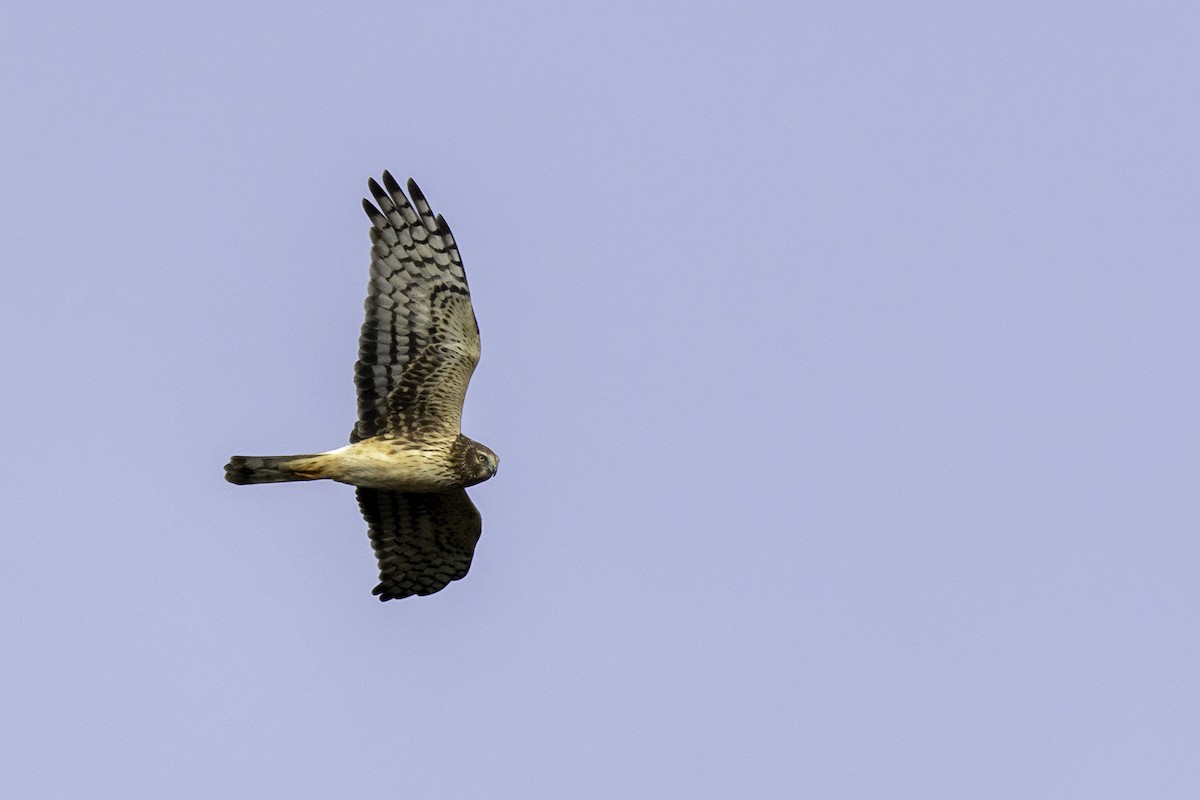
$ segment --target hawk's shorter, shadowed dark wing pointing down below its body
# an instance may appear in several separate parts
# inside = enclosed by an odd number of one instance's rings
[[[484,524],[467,492],[415,494],[359,488],[379,560],[379,600],[432,595],[467,575]]]

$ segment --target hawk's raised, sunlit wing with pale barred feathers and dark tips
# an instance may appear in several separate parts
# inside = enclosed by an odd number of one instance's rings
[[[383,186],[374,179],[368,185],[378,207],[362,200],[371,218],[371,283],[354,365],[359,421],[350,440],[377,435],[389,428],[389,417],[395,423],[403,416],[400,403],[418,391],[419,374],[442,381],[437,403],[425,411],[438,417],[427,421],[457,433],[479,361],[479,325],[462,258],[445,219],[433,215],[415,182],[408,181],[412,203],[386,172]],[[408,389],[397,391],[401,375],[419,359],[427,363],[409,375]],[[449,372],[439,368],[442,361]]]

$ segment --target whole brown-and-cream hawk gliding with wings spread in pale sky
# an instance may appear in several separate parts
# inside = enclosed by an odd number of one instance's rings
[[[464,491],[499,459],[462,435],[479,325],[454,235],[421,190],[368,181],[371,282],[354,381],[350,444],[302,456],[234,456],[230,483],[329,479],[358,487],[379,561],[379,600],[430,595],[467,575],[482,530]],[[412,198],[412,203],[409,201]]]

